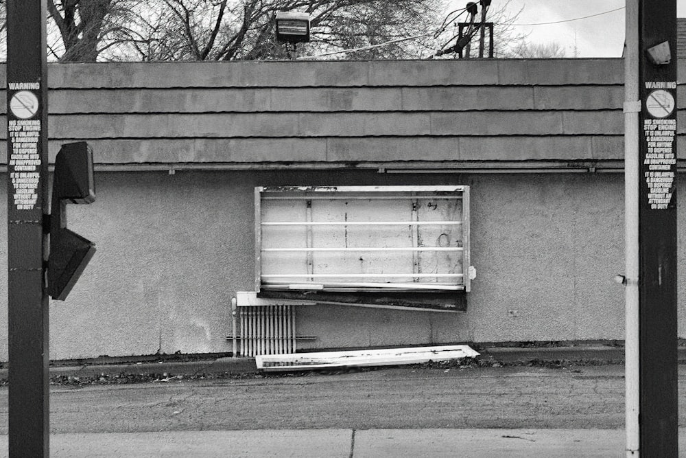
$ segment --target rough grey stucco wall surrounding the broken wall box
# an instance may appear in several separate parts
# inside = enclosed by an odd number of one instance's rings
[[[97,253],[68,300],[51,301],[51,358],[230,351],[230,299],[254,278],[255,185],[471,186],[477,278],[466,313],[303,307],[298,334],[318,340],[302,347],[624,336],[624,291],[612,281],[624,270],[621,174],[132,172],[96,184],[95,203],[69,205],[69,227]],[[1,360],[6,271],[0,244]],[[683,314],[678,330],[686,336]]]

